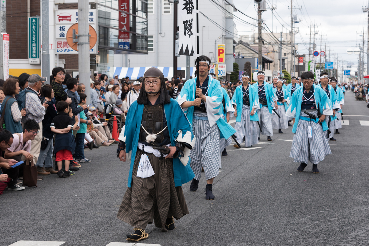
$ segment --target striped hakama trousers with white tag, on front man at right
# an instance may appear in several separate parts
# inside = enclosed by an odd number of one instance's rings
[[[311,112],[313,115],[317,115],[317,110]],[[300,116],[309,117],[304,112],[300,113]],[[311,126],[313,130],[313,137],[310,139],[307,135],[307,127]],[[296,133],[293,136],[292,147],[290,157],[293,158],[293,162],[305,162],[310,161],[313,164],[318,164],[324,160],[326,155],[331,154],[327,138],[324,136],[323,128],[319,123],[314,121],[307,121],[299,119],[297,123]]]

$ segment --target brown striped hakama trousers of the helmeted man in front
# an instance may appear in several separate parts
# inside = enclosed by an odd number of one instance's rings
[[[148,178],[137,177],[142,150],[137,148],[131,188],[125,191],[117,218],[134,228],[145,230],[152,224],[167,232],[165,221],[168,217],[180,219],[189,214],[182,186],[175,187],[173,177],[173,159],[161,160],[152,153],[146,153],[155,174]]]

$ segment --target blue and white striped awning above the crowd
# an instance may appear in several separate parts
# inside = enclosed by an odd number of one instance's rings
[[[130,77],[131,80],[137,80],[139,77],[144,76],[144,73],[146,70],[148,70],[150,67],[108,67],[109,70],[109,76],[113,77],[115,74],[118,74],[118,78],[125,78]],[[173,67],[157,67],[159,68],[165,78],[173,77]],[[178,67],[177,70],[184,70],[185,71],[185,77],[186,74],[186,67]],[[195,77],[195,70],[196,68],[190,67],[190,76]]]

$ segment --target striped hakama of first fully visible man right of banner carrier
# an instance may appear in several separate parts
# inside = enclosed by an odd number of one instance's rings
[[[250,106],[243,105],[241,113],[241,121],[236,122],[234,128],[237,131],[237,142],[239,144],[245,141],[245,147],[251,147],[258,144],[259,126],[255,120],[250,120]]]

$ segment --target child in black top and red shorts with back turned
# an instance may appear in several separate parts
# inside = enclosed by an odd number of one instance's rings
[[[65,101],[56,103],[58,115],[54,117],[50,125],[51,131],[55,133],[54,153],[56,155],[55,160],[58,165],[58,175],[60,178],[68,178],[70,176],[69,163],[73,160],[72,153],[76,147],[72,132],[75,126],[73,126],[73,120],[69,116],[69,108],[68,103]]]

